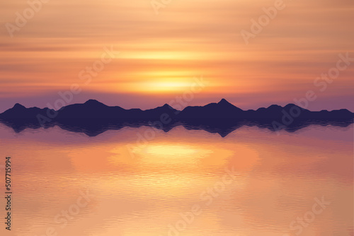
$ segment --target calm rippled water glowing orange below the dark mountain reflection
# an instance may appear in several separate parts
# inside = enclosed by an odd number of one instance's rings
[[[13,160],[10,235],[353,236],[353,125],[244,126],[224,138],[178,126],[137,142],[146,130],[0,124],[1,176]]]

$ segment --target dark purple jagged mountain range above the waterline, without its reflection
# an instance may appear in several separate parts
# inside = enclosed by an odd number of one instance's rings
[[[0,119],[38,119],[47,117],[51,121],[62,119],[117,119],[117,120],[159,120],[162,114],[167,114],[173,120],[185,119],[279,119],[292,117],[296,119],[353,119],[354,114],[346,109],[311,112],[295,104],[285,107],[271,105],[258,110],[241,110],[227,100],[210,103],[205,106],[185,107],[176,110],[168,104],[150,110],[110,107],[97,100],[88,100],[83,104],[67,105],[60,110],[38,107],[26,108],[16,103],[11,109],[0,114]]]

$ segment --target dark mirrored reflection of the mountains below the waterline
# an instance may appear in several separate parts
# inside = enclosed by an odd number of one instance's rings
[[[6,126],[11,127],[16,133],[23,131],[24,129],[39,129],[41,128],[38,122],[34,122],[33,120],[17,120],[13,122],[5,122],[0,121]],[[150,123],[151,124],[151,123]],[[87,136],[98,136],[98,134],[102,134],[108,130],[119,130],[124,127],[141,127],[146,126],[147,129],[150,129],[151,125],[149,122],[108,122],[107,120],[89,120],[84,122],[53,122],[47,124],[45,128],[50,128],[52,126],[59,126],[61,129],[72,131],[76,133],[84,133]],[[269,129],[270,131],[280,131],[285,130],[287,132],[295,132],[299,129],[302,129],[307,126],[311,125],[321,125],[321,126],[339,126],[339,127],[346,127],[350,124],[353,124],[352,120],[303,120],[294,122],[290,126],[285,126],[280,129],[274,129],[272,125],[272,121],[270,120],[243,120],[243,121],[236,121],[236,122],[224,122],[223,120],[213,120],[213,121],[205,121],[205,122],[175,122],[171,124],[164,125],[163,127],[154,126],[156,129],[162,129],[165,132],[170,131],[176,126],[183,126],[185,129],[188,130],[204,130],[212,134],[219,134],[220,136],[224,137],[228,134],[232,133],[236,129],[241,128],[241,126],[257,126],[263,129]]]

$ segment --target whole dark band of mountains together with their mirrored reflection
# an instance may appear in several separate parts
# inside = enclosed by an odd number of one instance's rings
[[[178,111],[164,105],[151,110],[109,107],[96,100],[84,104],[63,107],[62,110],[25,108],[16,104],[0,114],[0,122],[16,132],[59,126],[61,129],[97,136],[107,130],[118,130],[125,126],[153,126],[170,131],[175,126],[185,129],[205,130],[224,137],[241,126],[258,126],[270,131],[297,131],[309,125],[346,127],[353,123],[354,115],[348,110],[311,112],[297,105],[285,107],[271,105],[258,110],[241,110],[227,100],[210,103],[203,107],[185,107]]]

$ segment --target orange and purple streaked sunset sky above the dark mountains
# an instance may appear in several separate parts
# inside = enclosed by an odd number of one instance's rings
[[[18,27],[16,18],[30,14],[28,1],[0,3],[0,112],[16,102],[54,104],[73,84],[81,93],[70,103],[92,98],[147,109],[182,96],[195,78],[206,85],[186,105],[226,98],[247,110],[286,105],[313,90],[318,98],[310,110],[354,112],[353,0],[285,0],[248,45],[241,30],[251,32],[251,20],[274,0],[171,0],[159,14],[151,0],[34,6],[38,12]],[[13,37],[8,23],[18,27]],[[110,48],[115,58],[91,81],[81,79]],[[314,81],[346,53],[353,61],[321,91]]]

